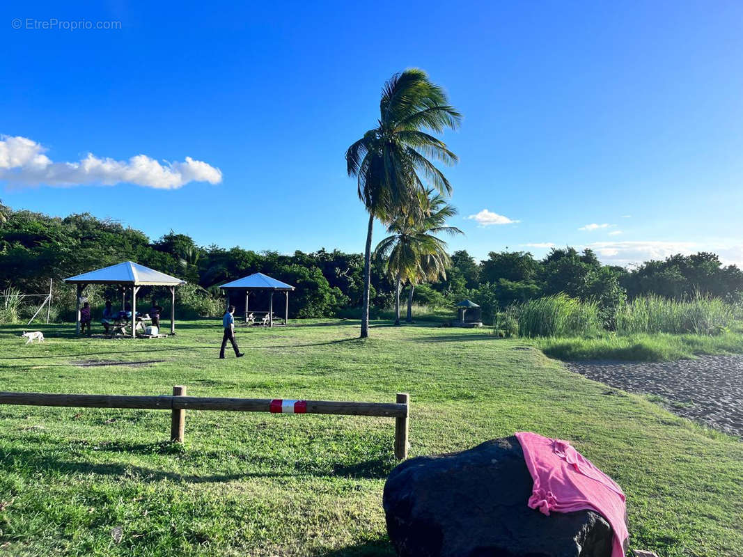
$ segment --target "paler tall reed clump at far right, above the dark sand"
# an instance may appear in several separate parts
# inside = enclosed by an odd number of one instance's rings
[[[730,328],[735,310],[719,298],[696,294],[673,300],[655,294],[635,298],[617,310],[617,333],[716,335]]]

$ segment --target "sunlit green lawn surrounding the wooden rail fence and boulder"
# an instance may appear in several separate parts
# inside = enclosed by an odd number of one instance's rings
[[[743,443],[642,397],[571,374],[522,339],[355,322],[239,331],[246,356],[216,359],[221,330],[73,339],[0,328],[0,389],[313,398],[412,397],[411,454],[513,431],[573,440],[628,495],[632,547],[662,557],[743,554]],[[108,365],[91,365],[108,362]],[[0,407],[0,555],[392,556],[381,494],[395,466],[383,418]]]

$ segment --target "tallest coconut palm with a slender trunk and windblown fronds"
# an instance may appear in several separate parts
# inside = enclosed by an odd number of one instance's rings
[[[453,164],[454,153],[427,131],[458,128],[461,114],[449,105],[447,94],[426,72],[409,69],[384,85],[377,127],[366,132],[345,152],[348,175],[357,178],[360,200],[369,212],[364,250],[364,290],[361,337],[369,336],[371,232],[374,218],[384,223],[424,191],[424,181],[441,193],[452,186],[429,159]]]

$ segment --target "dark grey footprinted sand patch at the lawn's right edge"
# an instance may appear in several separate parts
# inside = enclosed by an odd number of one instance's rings
[[[663,397],[673,413],[743,437],[743,356],[566,365],[614,388]]]

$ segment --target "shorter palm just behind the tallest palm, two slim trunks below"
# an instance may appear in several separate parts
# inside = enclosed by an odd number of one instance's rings
[[[446,226],[447,218],[457,210],[433,189],[419,193],[415,203],[404,206],[387,226],[389,236],[380,241],[374,253],[386,258],[387,269],[395,278],[395,325],[400,325],[400,286],[411,285],[408,315],[411,313],[412,289],[423,279],[435,280],[443,274],[451,261],[447,243],[436,234],[461,234],[457,227]],[[421,214],[419,218],[418,215]],[[409,319],[410,320],[410,319]]]

